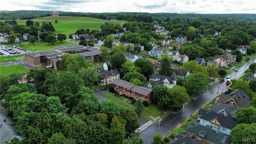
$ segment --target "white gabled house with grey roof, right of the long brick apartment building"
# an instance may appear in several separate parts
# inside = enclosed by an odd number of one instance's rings
[[[174,78],[173,76],[163,76],[154,73],[150,76],[150,80],[164,82],[164,85],[166,85],[167,88],[174,88],[177,82],[176,78]]]

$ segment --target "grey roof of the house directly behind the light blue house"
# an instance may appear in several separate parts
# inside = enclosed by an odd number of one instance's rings
[[[227,116],[236,116],[236,111],[238,110],[237,107],[234,107],[234,106],[230,106],[228,104],[222,104],[222,103],[215,103],[215,104],[212,104],[211,108],[210,108],[210,111],[212,112],[216,112],[216,113],[226,113]]]

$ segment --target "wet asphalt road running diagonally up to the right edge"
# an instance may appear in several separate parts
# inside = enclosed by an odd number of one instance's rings
[[[250,66],[250,64],[256,62],[256,60],[252,59],[246,65],[241,66],[238,69],[238,72],[232,71],[232,74],[230,74],[230,77],[235,77],[238,79],[240,76],[243,75],[244,71],[247,70]],[[217,91],[219,92],[225,92],[227,91],[226,86],[226,79],[222,84],[214,83],[212,85],[211,90],[208,90],[204,94],[200,94],[199,96],[196,96],[193,98],[189,103],[188,106],[186,106],[182,112],[178,112],[177,114],[169,114],[165,118],[163,118],[160,121],[160,134],[161,136],[164,136],[167,132],[169,132],[174,126],[178,125],[182,119],[187,118],[190,116],[192,112],[195,110],[198,110],[200,106],[202,106],[205,103],[208,103],[212,101],[217,96]],[[183,115],[183,116],[182,116]],[[153,141],[154,135],[156,135],[159,132],[159,122],[155,122],[151,126],[147,127],[145,130],[140,132],[138,136],[144,140],[144,144],[150,144]]]

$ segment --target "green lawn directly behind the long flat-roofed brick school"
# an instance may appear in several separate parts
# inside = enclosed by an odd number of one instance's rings
[[[15,45],[25,48],[26,50],[35,52],[35,51],[41,51],[41,50],[51,50],[51,49],[55,50],[55,46],[68,46],[68,45],[76,45],[76,44],[68,41],[63,41],[63,42],[57,41],[52,45],[48,44],[47,42],[34,42],[34,44],[28,42],[28,43],[22,43],[21,45],[20,44],[15,44]],[[12,45],[6,46],[6,47],[12,47]]]

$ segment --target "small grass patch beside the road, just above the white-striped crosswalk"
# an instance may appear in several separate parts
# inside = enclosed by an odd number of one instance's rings
[[[164,109],[154,103],[150,103],[150,104],[148,104],[148,106],[145,106],[144,111],[153,117],[157,117],[160,114],[164,113]]]

